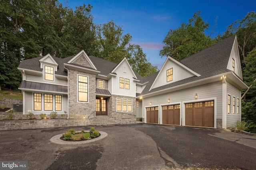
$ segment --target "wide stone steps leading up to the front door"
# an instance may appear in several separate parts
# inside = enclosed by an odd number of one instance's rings
[[[119,123],[109,116],[96,116],[89,123],[89,125],[94,125],[94,126],[111,126],[116,124],[119,124]]]

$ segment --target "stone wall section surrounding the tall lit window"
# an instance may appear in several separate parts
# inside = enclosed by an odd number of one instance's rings
[[[88,102],[78,102],[78,74],[88,76]],[[96,75],[78,70],[68,70],[68,102],[69,118],[88,119],[88,116],[95,111]]]

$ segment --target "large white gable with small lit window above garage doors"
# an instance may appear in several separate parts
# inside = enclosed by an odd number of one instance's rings
[[[168,56],[161,70],[159,71],[156,79],[154,80],[150,90],[192,76],[201,75],[191,70],[179,61],[175,60],[174,58]]]

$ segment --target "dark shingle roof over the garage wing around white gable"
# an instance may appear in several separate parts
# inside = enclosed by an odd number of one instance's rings
[[[228,70],[227,66],[228,66],[228,60],[230,57],[232,46],[234,44],[235,37],[236,35],[232,35],[231,37],[223,41],[220,41],[219,43],[216,43],[180,61],[180,63],[194,70],[201,76],[192,76],[192,77],[189,77],[177,82],[173,82],[170,84],[166,84],[164,86],[160,86],[150,90],[150,87],[152,86],[158,74],[157,72],[157,74],[155,73],[156,75],[152,74],[154,75],[154,77],[152,77],[151,75],[143,79],[143,82],[147,82],[147,81],[149,82],[140,95],[156,92],[159,90],[164,90],[166,88],[171,88],[178,85],[193,82],[196,80],[201,80],[211,76],[216,76],[219,74],[230,72],[231,70]]]

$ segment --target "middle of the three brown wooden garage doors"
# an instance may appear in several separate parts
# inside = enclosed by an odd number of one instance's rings
[[[180,125],[180,105],[162,107],[162,123],[167,125]]]

